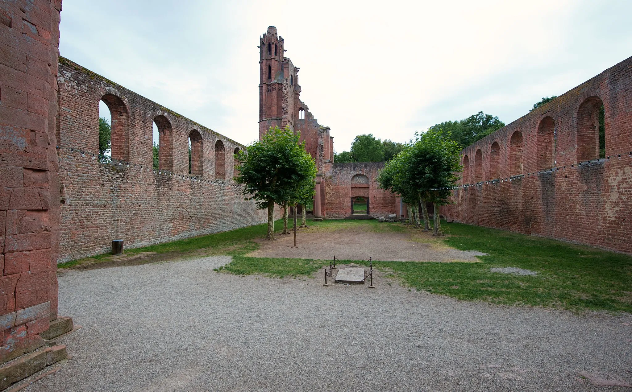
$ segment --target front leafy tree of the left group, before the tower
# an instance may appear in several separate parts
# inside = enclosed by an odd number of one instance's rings
[[[257,208],[268,210],[267,239],[274,239],[274,204],[287,205],[298,200],[303,186],[314,184],[316,163],[305,151],[305,141],[289,128],[270,128],[262,136],[236,154],[239,160],[235,181],[243,184],[246,200],[254,200]],[[313,186],[313,185],[312,185]]]

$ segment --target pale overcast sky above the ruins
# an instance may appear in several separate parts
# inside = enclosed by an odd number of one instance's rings
[[[259,37],[336,151],[483,110],[509,123],[632,56],[632,1],[64,0],[61,55],[229,138],[258,135]]]

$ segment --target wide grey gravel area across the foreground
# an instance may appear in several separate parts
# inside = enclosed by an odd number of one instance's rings
[[[59,276],[73,359],[25,391],[623,391],[632,316],[500,307],[228,256]],[[591,381],[592,379],[592,381]]]

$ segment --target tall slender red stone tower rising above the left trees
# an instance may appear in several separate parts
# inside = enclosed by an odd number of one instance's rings
[[[260,38],[259,46],[259,139],[270,129],[283,121],[284,72],[283,38],[277,35],[276,27]]]

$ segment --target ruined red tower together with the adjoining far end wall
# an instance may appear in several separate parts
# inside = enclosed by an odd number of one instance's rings
[[[395,196],[379,189],[376,182],[384,162],[334,163],[334,138],[301,101],[299,68],[284,57],[284,40],[276,27],[268,27],[260,37],[259,50],[259,137],[274,126],[300,132],[318,168],[314,215],[348,217],[353,196],[367,199],[368,215],[374,217],[399,211]]]

